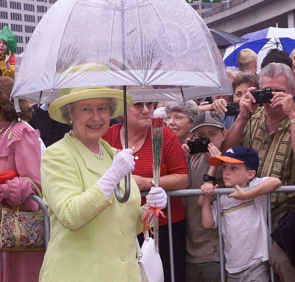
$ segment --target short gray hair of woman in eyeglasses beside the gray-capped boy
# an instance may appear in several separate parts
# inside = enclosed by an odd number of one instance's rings
[[[189,100],[186,102],[181,102],[181,101],[175,101],[175,102],[170,102],[165,106],[165,112],[182,112],[188,115],[190,118],[190,122],[192,123],[197,115],[200,113],[199,106],[197,103],[193,100]]]

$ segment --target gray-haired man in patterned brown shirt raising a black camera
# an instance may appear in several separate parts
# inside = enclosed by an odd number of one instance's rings
[[[240,114],[228,131],[222,151],[233,146],[252,147],[258,153],[258,177],[274,176],[282,186],[295,185],[295,104],[294,78],[291,69],[282,63],[270,63],[260,72],[259,86],[251,87],[240,100]],[[272,97],[269,99],[269,89]],[[258,98],[257,101],[254,97]],[[264,97],[262,97],[264,96]],[[263,107],[258,108],[258,103]],[[250,119],[251,116],[251,119]],[[273,230],[277,221],[295,203],[295,192],[274,194],[271,198]],[[295,268],[287,254],[272,245],[270,264],[281,281],[294,281]],[[277,280],[279,281],[279,280]]]

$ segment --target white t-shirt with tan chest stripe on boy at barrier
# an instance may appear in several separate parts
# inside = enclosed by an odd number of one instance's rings
[[[264,178],[254,178],[247,187],[255,187]],[[225,268],[229,273],[243,271],[265,260],[269,260],[267,195],[252,200],[236,200],[227,195],[220,196],[221,230],[224,240]],[[217,202],[211,205],[214,226],[217,223]]]

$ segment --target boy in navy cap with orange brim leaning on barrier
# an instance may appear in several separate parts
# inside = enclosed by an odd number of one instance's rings
[[[210,205],[213,190],[218,188],[207,182],[201,186],[203,193],[201,222],[205,229],[218,226],[221,213],[227,282],[269,281],[269,247],[267,195],[276,190],[281,181],[275,177],[255,178],[259,159],[257,153],[242,146],[226,151],[224,156],[209,159],[209,174],[223,166],[222,177],[226,187],[235,187],[229,195],[220,195],[220,211],[216,201]],[[251,187],[244,191],[241,187]]]

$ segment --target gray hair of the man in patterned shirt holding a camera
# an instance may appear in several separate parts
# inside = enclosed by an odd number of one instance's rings
[[[288,90],[294,86],[294,77],[289,66],[282,63],[270,63],[266,65],[259,74],[259,86],[262,87],[264,76],[275,78],[285,76],[287,78]],[[293,93],[292,93],[293,94]]]

